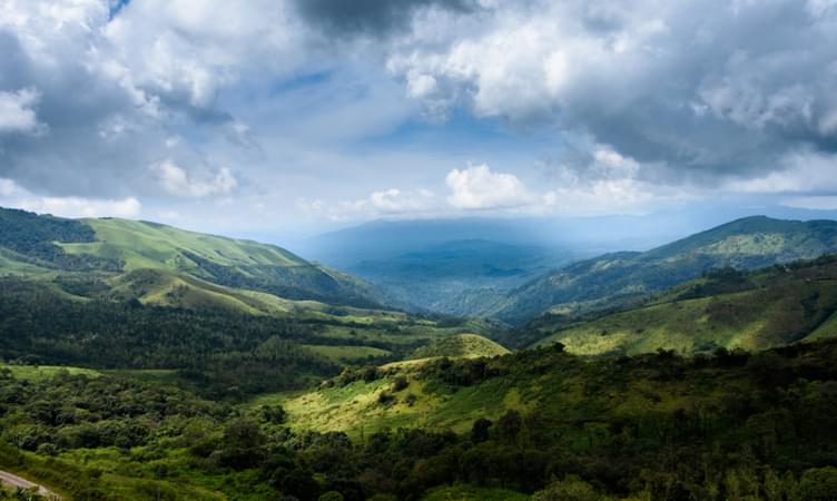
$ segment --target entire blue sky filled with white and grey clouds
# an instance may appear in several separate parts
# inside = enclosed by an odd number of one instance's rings
[[[0,0],[0,206],[837,209],[835,0]]]

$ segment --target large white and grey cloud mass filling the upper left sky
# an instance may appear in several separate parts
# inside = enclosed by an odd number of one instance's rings
[[[284,1],[3,1],[0,176],[56,196],[156,196],[146,167],[173,136],[189,164],[252,160],[237,115],[254,108],[221,94],[321,66],[307,31]]]

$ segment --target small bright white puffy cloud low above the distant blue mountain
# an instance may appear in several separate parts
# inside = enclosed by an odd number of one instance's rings
[[[488,165],[453,169],[445,177],[447,203],[460,209],[494,209],[525,205],[526,187],[513,174],[492,173]]]

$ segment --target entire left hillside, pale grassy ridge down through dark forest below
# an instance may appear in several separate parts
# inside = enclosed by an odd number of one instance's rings
[[[492,328],[351,306],[372,305],[375,294],[269,245],[0,209],[7,361],[164,371],[204,395],[242,399]]]

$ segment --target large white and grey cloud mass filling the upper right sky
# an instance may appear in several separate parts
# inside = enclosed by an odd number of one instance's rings
[[[416,18],[391,46],[387,68],[437,116],[558,124],[676,183],[780,170],[801,147],[837,151],[830,3],[533,0],[471,17]]]

